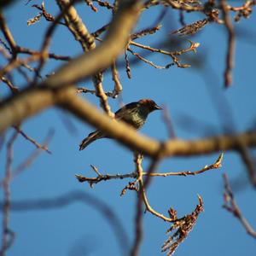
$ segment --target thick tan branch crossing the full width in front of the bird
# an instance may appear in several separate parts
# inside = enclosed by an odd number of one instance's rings
[[[73,89],[53,91],[34,88],[28,92],[21,94],[19,101],[13,101],[10,106],[5,108],[3,106],[0,111],[0,131],[4,131],[9,125],[19,124],[24,117],[38,113],[41,109],[46,108],[45,106],[58,103],[61,108],[67,109],[90,125],[107,132],[119,143],[152,157],[188,156],[225,150],[240,150],[241,144],[247,147],[256,146],[256,132],[253,131],[191,141],[175,139],[166,143],[159,143],[151,138],[139,135],[137,131],[124,123],[110,119],[89,102],[85,102],[84,99],[76,96],[76,91]],[[25,102],[25,104],[20,102]]]

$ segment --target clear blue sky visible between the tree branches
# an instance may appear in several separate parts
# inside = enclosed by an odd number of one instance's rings
[[[29,20],[38,13],[36,9],[19,1],[5,10],[5,17],[17,44],[32,49],[39,49],[44,32],[49,23],[44,19],[33,26],[26,26]],[[76,6],[91,32],[104,25],[110,18],[105,11],[93,13],[85,4]],[[55,15],[58,9],[53,1],[45,1],[45,8]],[[146,11],[139,20],[139,28],[152,25],[160,8]],[[201,15],[187,14],[187,23],[200,20]],[[224,89],[224,63],[226,55],[226,31],[224,26],[209,25],[195,37],[199,42],[197,54],[189,53],[183,57],[184,63],[198,63],[190,68],[171,67],[168,70],[157,70],[145,63],[131,65],[132,79],[128,79],[125,69],[119,68],[122,94],[125,103],[141,98],[152,98],[160,105],[166,105],[172,116],[172,123],[177,137],[191,139],[209,136],[207,125],[215,132],[223,132],[223,124],[234,131],[246,131],[255,124],[255,16],[236,24],[236,66],[233,72],[233,85]],[[172,39],[170,32],[180,27],[176,12],[168,11],[162,22],[162,29],[155,36],[148,36],[141,41],[144,44],[156,45],[168,43]],[[1,35],[1,38],[3,36]],[[182,39],[182,47],[188,45]],[[177,47],[177,46],[176,46]],[[180,46],[177,47],[178,49]],[[140,51],[136,49],[137,51]],[[55,32],[50,51],[60,55],[75,56],[81,53],[78,42],[68,32],[67,27],[60,26]],[[148,59],[159,65],[168,61],[161,55],[149,55]],[[120,62],[123,58],[119,58]],[[3,58],[0,58],[3,65]],[[48,61],[43,74],[55,70],[61,61]],[[15,84],[24,85],[24,80],[15,77]],[[93,88],[90,82],[79,85]],[[113,82],[109,74],[105,75],[104,88],[111,90]],[[1,95],[8,90],[0,87]],[[99,106],[95,96],[86,95],[86,100]],[[217,103],[216,103],[217,102]],[[221,104],[220,104],[221,102]],[[119,108],[116,100],[109,99],[113,110]],[[217,106],[217,107],[216,107]],[[228,109],[231,109],[229,111]],[[222,119],[219,119],[219,114]],[[187,117],[195,119],[199,126],[193,129]],[[72,122],[76,131],[67,130],[65,121]],[[38,200],[66,195],[70,191],[80,191],[103,201],[115,212],[123,224],[128,237],[126,250],[129,251],[134,236],[134,216],[136,197],[133,191],[121,197],[120,191],[130,180],[109,181],[96,184],[94,189],[86,183],[78,183],[75,174],[94,176],[90,164],[98,167],[102,173],[126,173],[134,170],[132,154],[118,143],[104,139],[91,144],[79,152],[80,141],[93,130],[60,109],[50,108],[37,117],[26,120],[22,125],[26,133],[43,142],[50,129],[55,131],[49,143],[51,155],[44,152],[32,166],[29,166],[20,176],[15,177],[11,184],[11,195],[14,201]],[[9,130],[8,137],[13,131]],[[166,140],[168,137],[166,125],[161,113],[152,113],[148,123],[144,125],[143,134],[155,139]],[[24,138],[15,142],[14,167],[18,166],[32,153],[34,147]],[[0,152],[0,166],[4,170],[6,150]],[[212,164],[218,154],[202,155],[190,158],[171,158],[163,160],[158,172],[195,171],[205,165]],[[148,160],[143,161],[147,170]],[[248,183],[245,166],[240,156],[234,152],[224,153],[223,167],[195,177],[156,177],[148,188],[148,201],[155,210],[167,212],[169,207],[177,210],[178,216],[192,212],[197,204],[196,194],[200,194],[205,203],[194,230],[183,244],[178,247],[175,255],[232,255],[253,256],[256,249],[255,240],[247,236],[241,224],[223,208],[222,173],[227,173],[231,184],[234,184],[236,201],[244,216],[256,228],[255,190]],[[3,177],[3,171],[1,172]],[[3,197],[3,193],[1,192]],[[160,246],[166,240],[166,230],[169,224],[155,218],[149,212],[144,216],[143,245],[140,255],[161,255]],[[1,225],[1,224],[0,224]],[[67,207],[44,211],[11,212],[10,228],[15,231],[15,243],[8,255],[122,255],[112,225],[102,217],[90,204],[74,202]],[[246,248],[246,251],[245,251]],[[164,255],[164,253],[162,253]]]

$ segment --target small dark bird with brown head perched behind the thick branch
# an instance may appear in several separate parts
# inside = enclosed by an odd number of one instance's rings
[[[114,115],[115,119],[122,120],[128,125],[131,125],[136,130],[143,127],[148,117],[148,113],[154,110],[162,109],[153,100],[143,99],[138,102],[131,102],[120,108]],[[93,143],[97,139],[108,137],[100,130],[91,132],[88,137],[85,137],[82,143],[79,145],[79,150],[83,150],[90,143]],[[108,137],[110,138],[110,137]]]

